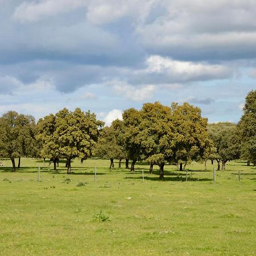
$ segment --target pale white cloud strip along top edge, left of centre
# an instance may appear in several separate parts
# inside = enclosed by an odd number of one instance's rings
[[[13,17],[21,22],[37,20],[61,13],[68,13],[79,7],[84,8],[88,22],[106,24],[123,16],[144,20],[150,13],[155,0],[40,0],[24,1],[16,9]]]

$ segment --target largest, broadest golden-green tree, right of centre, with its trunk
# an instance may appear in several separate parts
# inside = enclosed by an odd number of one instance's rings
[[[201,110],[184,103],[164,106],[147,103],[140,111],[123,113],[123,142],[131,159],[147,160],[160,167],[199,159],[208,145],[207,119]]]

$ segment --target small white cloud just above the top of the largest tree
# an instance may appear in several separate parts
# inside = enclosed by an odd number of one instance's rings
[[[126,81],[112,80],[107,83],[112,86],[114,92],[131,101],[144,101],[154,96],[155,85],[133,86]]]

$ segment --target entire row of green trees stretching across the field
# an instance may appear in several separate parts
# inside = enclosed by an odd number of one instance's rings
[[[50,158],[56,169],[58,159],[66,159],[67,173],[71,160],[81,162],[90,156],[126,159],[126,168],[134,171],[137,161],[159,166],[164,177],[166,163],[177,164],[183,170],[192,160],[216,160],[218,170],[225,169],[228,160],[241,157],[256,164],[256,90],[247,94],[244,114],[236,125],[229,122],[207,123],[201,110],[184,103],[164,106],[159,102],[146,103],[141,110],[127,109],[123,120],[115,120],[110,127],[96,119],[96,115],[81,109],[60,110],[39,119],[30,115],[8,112],[0,118],[0,155],[15,158]]]

